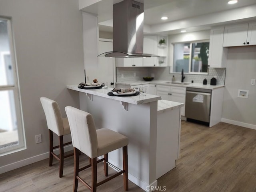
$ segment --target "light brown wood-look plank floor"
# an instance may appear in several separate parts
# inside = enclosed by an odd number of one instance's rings
[[[80,162],[87,164],[88,159],[82,154]],[[73,157],[64,160],[62,178],[58,177],[56,161],[49,167],[47,159],[0,174],[0,192],[71,192],[73,164]],[[90,181],[90,169],[81,173]],[[102,180],[102,163],[98,174]],[[256,192],[256,130],[222,122],[209,128],[182,121],[177,167],[159,178],[158,186],[158,191],[166,192]],[[78,191],[89,190],[79,182]],[[122,176],[97,191],[123,192]],[[143,190],[129,182],[129,191]]]

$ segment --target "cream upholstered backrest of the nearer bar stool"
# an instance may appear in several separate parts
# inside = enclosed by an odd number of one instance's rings
[[[92,115],[71,106],[66,106],[65,110],[73,146],[90,158],[96,157],[98,140]]]

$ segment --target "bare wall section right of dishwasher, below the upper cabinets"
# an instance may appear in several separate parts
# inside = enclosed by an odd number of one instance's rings
[[[222,118],[224,122],[256,128],[256,46],[228,48]],[[238,89],[249,90],[248,99],[238,98]]]

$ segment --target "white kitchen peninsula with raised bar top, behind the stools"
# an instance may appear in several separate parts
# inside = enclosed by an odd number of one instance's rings
[[[134,184],[148,191],[148,186],[157,186],[156,179],[175,167],[182,103],[164,102],[150,94],[108,96],[112,88],[67,88],[79,92],[80,109],[92,114],[96,128],[108,128],[129,138],[128,179]],[[110,152],[108,159],[122,169],[122,149]]]

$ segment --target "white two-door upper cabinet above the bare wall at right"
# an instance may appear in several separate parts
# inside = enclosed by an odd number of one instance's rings
[[[224,47],[256,45],[256,22],[225,26]]]

